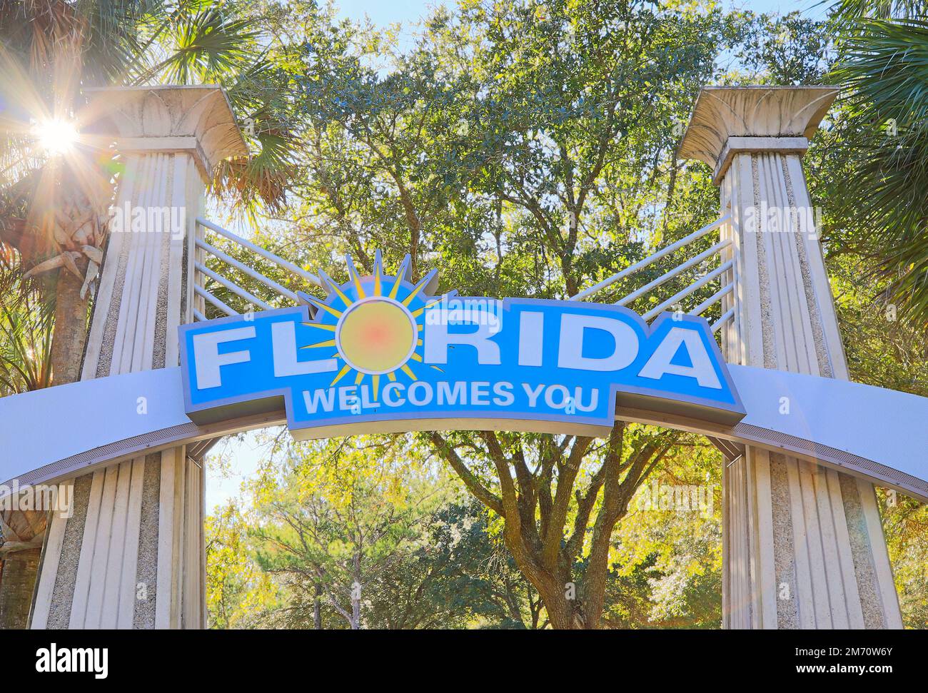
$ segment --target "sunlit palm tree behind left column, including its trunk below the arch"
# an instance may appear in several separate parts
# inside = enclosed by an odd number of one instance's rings
[[[214,189],[249,211],[282,201],[291,173],[286,91],[266,59],[266,37],[254,28],[260,18],[251,15],[243,0],[0,3],[0,290],[8,289],[0,305],[0,395],[80,377],[118,179],[110,152],[83,132],[91,118],[84,88],[226,86],[260,153],[224,162]],[[32,594],[33,545],[41,544],[45,515],[3,520],[0,628],[19,627],[28,617],[30,599],[22,595]],[[16,553],[8,550],[13,544]]]

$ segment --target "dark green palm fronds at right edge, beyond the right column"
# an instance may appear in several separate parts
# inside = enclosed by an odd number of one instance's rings
[[[839,199],[869,229],[888,296],[928,326],[928,2],[841,0],[835,78],[861,154]],[[863,135],[861,135],[863,134]]]

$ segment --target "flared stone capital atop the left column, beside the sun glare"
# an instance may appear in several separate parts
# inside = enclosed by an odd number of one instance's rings
[[[98,135],[115,135],[123,152],[186,151],[204,177],[248,148],[225,90],[216,84],[87,89]]]

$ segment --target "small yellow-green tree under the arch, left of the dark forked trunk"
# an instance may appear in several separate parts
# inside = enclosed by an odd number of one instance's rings
[[[403,439],[290,446],[251,484],[261,568],[299,600],[324,596],[360,627],[370,576],[395,569],[439,501],[443,481]]]

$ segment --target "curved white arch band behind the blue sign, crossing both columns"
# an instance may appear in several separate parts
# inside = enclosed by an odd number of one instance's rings
[[[928,450],[928,398],[840,379],[728,369],[747,410],[734,426],[668,414],[651,408],[652,400],[621,395],[616,417],[818,460],[928,502],[928,460],[912,455]],[[56,417],[53,431],[43,412],[69,416]],[[52,483],[143,451],[284,423],[282,402],[277,411],[193,423],[184,413],[178,367],[84,380],[0,398],[0,479],[7,487],[13,480]],[[496,423],[456,419],[448,426]],[[409,422],[407,430],[415,428]],[[501,421],[498,428],[513,427]],[[0,488],[5,493],[9,488]]]

